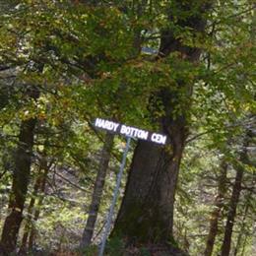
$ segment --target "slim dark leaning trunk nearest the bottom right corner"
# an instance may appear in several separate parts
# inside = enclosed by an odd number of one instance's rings
[[[250,137],[251,137],[250,131],[247,131],[244,138],[243,149],[240,153],[240,158],[239,158],[239,161],[241,163],[248,162],[247,147],[250,142]],[[236,176],[235,176],[235,181],[232,188],[232,195],[230,198],[227,219],[226,219],[226,224],[224,228],[224,241],[223,241],[222,253],[221,253],[222,256],[228,256],[230,252],[232,229],[233,229],[234,219],[236,215],[236,208],[239,202],[239,196],[242,189],[241,185],[242,185],[244,167],[239,162],[236,163],[235,165],[236,165],[235,166]]]

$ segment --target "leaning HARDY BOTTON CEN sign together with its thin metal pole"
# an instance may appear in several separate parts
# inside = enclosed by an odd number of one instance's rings
[[[154,142],[160,145],[164,145],[166,143],[166,135],[162,135],[160,133],[152,133],[136,127],[119,124],[119,123],[101,119],[101,118],[96,118],[95,126],[96,128],[100,128],[108,132],[124,135],[126,137],[126,145],[123,152],[123,157],[122,157],[121,165],[119,168],[119,172],[117,175],[117,181],[114,189],[113,199],[112,199],[110,209],[106,218],[106,226],[105,226],[105,230],[103,233],[102,241],[100,243],[100,248],[98,252],[98,256],[103,256],[107,235],[110,229],[112,216],[114,213],[114,206],[117,201],[119,188],[122,180],[122,175],[123,175],[124,167],[126,163],[126,158],[130,148],[131,139],[138,138],[140,140],[145,140],[145,141]]]

